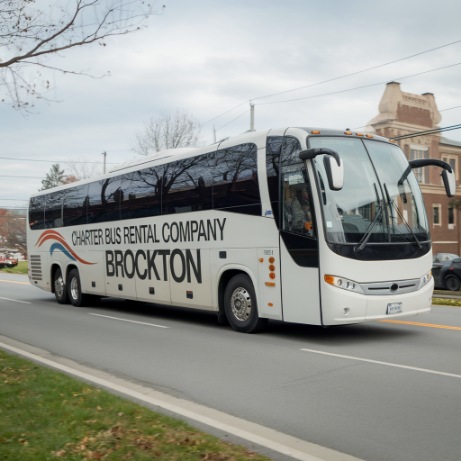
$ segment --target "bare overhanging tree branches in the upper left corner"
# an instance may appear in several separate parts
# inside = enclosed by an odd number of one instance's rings
[[[46,69],[86,75],[47,58],[92,43],[105,46],[108,37],[145,26],[151,14],[143,0],[0,0],[1,101],[30,107],[50,86]]]

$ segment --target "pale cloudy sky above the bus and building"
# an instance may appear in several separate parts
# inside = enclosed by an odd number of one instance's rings
[[[141,31],[48,61],[91,77],[44,70],[51,88],[29,113],[0,103],[0,208],[26,207],[55,163],[102,173],[104,158],[108,169],[135,159],[136,134],[175,110],[200,121],[201,145],[247,131],[250,103],[256,130],[360,129],[398,81],[435,95],[439,126],[461,123],[459,0],[157,6]]]

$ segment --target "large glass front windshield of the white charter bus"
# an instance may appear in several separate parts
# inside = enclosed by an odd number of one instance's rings
[[[311,137],[308,143],[334,149],[344,163],[344,187],[333,191],[323,156],[314,161],[325,237],[335,251],[347,246],[350,256],[351,250],[357,255],[370,245],[386,244],[422,249],[429,240],[424,203],[415,176],[405,174],[408,162],[399,147],[343,137]]]

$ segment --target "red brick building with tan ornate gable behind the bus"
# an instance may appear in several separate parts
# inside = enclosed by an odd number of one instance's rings
[[[400,89],[400,83],[386,85],[379,103],[379,114],[367,131],[397,139],[408,160],[436,158],[448,162],[460,182],[461,142],[447,139],[436,130],[441,121],[432,93],[412,94]],[[417,136],[412,136],[418,133]],[[448,198],[435,167],[413,170],[424,195],[434,253],[461,254],[461,191]],[[457,209],[457,206],[459,209]]]

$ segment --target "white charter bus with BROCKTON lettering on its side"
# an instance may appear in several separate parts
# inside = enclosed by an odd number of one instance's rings
[[[341,325],[431,305],[431,241],[413,168],[388,140],[288,128],[179,149],[42,191],[28,213],[31,283],[59,303],[117,297]]]

